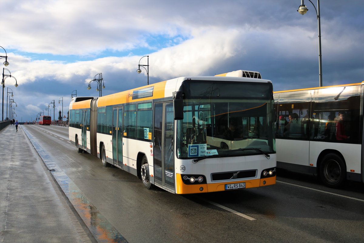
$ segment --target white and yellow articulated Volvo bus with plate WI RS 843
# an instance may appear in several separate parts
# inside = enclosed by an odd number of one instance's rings
[[[256,78],[241,70],[179,77],[71,102],[69,139],[148,189],[186,194],[275,184],[272,82],[250,73]]]

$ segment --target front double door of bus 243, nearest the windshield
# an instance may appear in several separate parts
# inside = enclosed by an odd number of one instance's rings
[[[155,184],[174,191],[173,103],[154,105]]]

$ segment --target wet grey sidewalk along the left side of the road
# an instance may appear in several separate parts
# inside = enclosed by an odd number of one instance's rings
[[[0,130],[0,242],[91,242],[22,126]]]

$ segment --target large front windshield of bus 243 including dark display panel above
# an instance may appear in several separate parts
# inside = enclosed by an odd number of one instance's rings
[[[177,157],[275,153],[271,83],[185,81]]]

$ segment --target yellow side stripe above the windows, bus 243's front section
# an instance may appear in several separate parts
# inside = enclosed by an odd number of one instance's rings
[[[98,107],[102,106],[109,106],[109,105],[118,105],[118,104],[125,104],[129,102],[135,102],[135,101],[147,101],[150,99],[158,99],[158,98],[164,98],[164,91],[166,87],[167,81],[154,83],[153,85],[146,85],[143,87],[138,87],[137,89],[131,89],[122,91],[116,94],[110,94],[103,97],[100,97],[97,103]],[[146,87],[153,87],[153,96],[152,97],[146,97],[146,98],[140,98],[140,99],[132,99],[133,91],[144,89]]]

